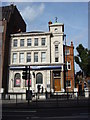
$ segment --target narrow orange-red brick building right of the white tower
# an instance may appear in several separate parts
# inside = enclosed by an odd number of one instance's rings
[[[71,42],[71,46],[64,46],[64,62],[67,61],[67,70],[64,72],[65,88],[66,91],[73,91],[75,87],[74,81],[74,46]]]

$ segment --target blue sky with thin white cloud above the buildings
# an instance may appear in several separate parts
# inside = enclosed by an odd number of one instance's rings
[[[64,23],[67,45],[73,41],[74,55],[77,55],[76,47],[79,44],[88,48],[88,2],[82,1],[84,2],[13,2],[13,4],[17,6],[25,20],[27,31],[48,32],[48,22],[51,20],[54,23],[57,17],[59,23]],[[10,4],[11,2],[2,2],[4,6]],[[79,66],[75,64],[75,72],[79,70]]]

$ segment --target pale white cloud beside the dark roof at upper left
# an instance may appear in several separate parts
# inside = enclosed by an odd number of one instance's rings
[[[35,20],[38,16],[40,16],[43,13],[44,9],[45,6],[43,3],[41,3],[39,6],[38,5],[26,6],[20,12],[26,21],[31,22]]]

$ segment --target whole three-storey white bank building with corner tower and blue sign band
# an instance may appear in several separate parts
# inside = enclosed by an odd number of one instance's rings
[[[30,70],[30,89],[38,85],[50,92],[65,90],[64,24],[48,22],[49,31],[11,34],[8,92],[26,92],[28,79],[22,79],[24,66],[43,68]],[[48,69],[52,68],[52,69]],[[41,89],[40,89],[41,91]]]

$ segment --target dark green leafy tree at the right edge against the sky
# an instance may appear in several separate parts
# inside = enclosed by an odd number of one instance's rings
[[[75,56],[75,62],[79,65],[86,77],[90,76],[90,50],[84,48],[82,44],[76,48],[78,55]]]

